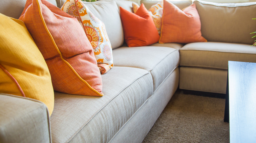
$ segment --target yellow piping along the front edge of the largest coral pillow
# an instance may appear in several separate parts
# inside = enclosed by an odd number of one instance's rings
[[[39,15],[40,15],[41,20],[42,20],[42,22],[43,22],[43,24],[44,24],[45,30],[47,31],[48,35],[50,36],[50,38],[51,38],[51,40],[52,40],[52,42],[53,42],[54,47],[56,48],[56,50],[58,51],[58,53],[59,53],[59,55],[60,55],[60,58],[71,68],[71,70],[75,73],[75,75],[76,75],[82,82],[84,82],[90,89],[92,89],[94,92],[96,92],[99,96],[103,96],[104,94],[100,94],[97,90],[95,90],[93,87],[91,87],[84,79],[82,79],[82,78],[78,75],[78,73],[74,70],[74,68],[62,57],[62,54],[61,54],[61,52],[59,51],[59,48],[58,48],[58,46],[56,45],[56,43],[55,43],[55,41],[54,41],[54,39],[53,39],[52,34],[50,33],[49,29],[48,29],[47,26],[46,26],[46,23],[45,23],[45,21],[44,21],[44,18],[43,18],[43,15],[42,15],[42,12],[41,12],[41,9],[40,9],[40,4],[39,4],[38,0],[36,0],[36,3],[37,3],[37,6],[38,6]]]

